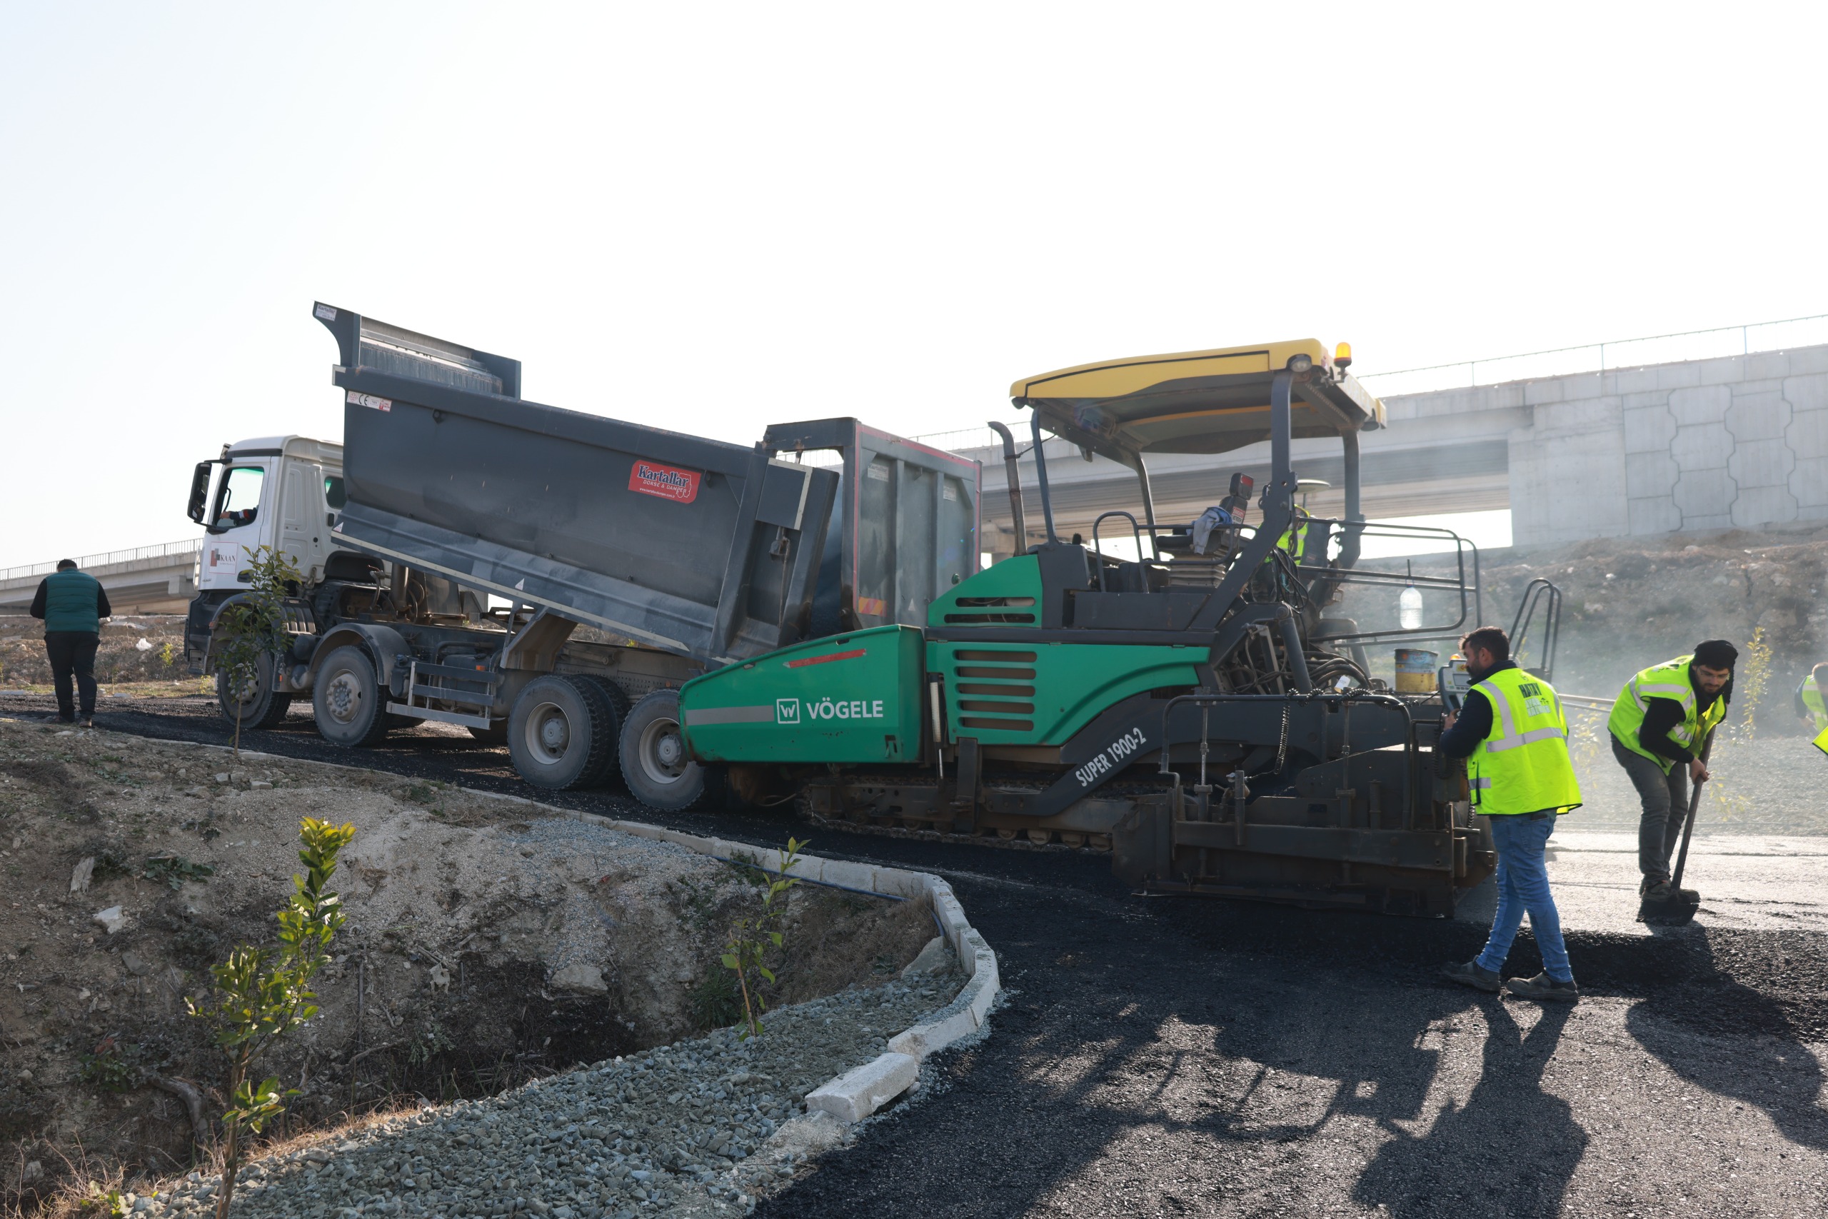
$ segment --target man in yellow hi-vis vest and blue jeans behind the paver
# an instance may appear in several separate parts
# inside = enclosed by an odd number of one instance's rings
[[[1554,687],[1512,662],[1510,638],[1501,629],[1479,627],[1462,636],[1461,654],[1472,691],[1461,715],[1446,718],[1440,751],[1466,758],[1473,811],[1492,819],[1497,914],[1484,950],[1440,972],[1477,991],[1497,991],[1499,970],[1528,912],[1543,972],[1506,978],[1503,989],[1530,1000],[1570,1003],[1581,991],[1568,967],[1561,914],[1548,892],[1545,866],[1556,819],[1581,806],[1581,786],[1568,758],[1568,720]]]

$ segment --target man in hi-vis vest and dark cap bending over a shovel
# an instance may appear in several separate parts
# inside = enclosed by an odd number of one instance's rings
[[[1704,782],[1700,751],[1733,700],[1738,649],[1706,640],[1691,656],[1643,669],[1612,704],[1612,757],[1638,790],[1638,896],[1647,905],[1671,901],[1669,861],[1689,813],[1689,780]],[[1684,894],[1695,899],[1696,894]]]

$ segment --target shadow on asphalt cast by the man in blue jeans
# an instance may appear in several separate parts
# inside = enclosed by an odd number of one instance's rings
[[[1545,1005],[1525,1029],[1508,1002],[1481,1003],[1486,1038],[1479,1082],[1448,1100],[1419,1135],[1393,1135],[1358,1177],[1353,1197],[1391,1215],[1554,1215],[1587,1153],[1587,1131],[1567,1100],[1543,1091],[1572,1007]],[[1466,1011],[1462,1007],[1462,1011]]]

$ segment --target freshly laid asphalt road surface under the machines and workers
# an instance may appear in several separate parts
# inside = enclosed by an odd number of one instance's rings
[[[0,715],[44,716],[0,694]],[[104,731],[227,742],[208,700],[106,700]],[[505,749],[415,729],[289,757],[534,795]],[[552,804],[762,844],[786,811]],[[1565,826],[1552,875],[1583,998],[1437,981],[1484,939],[1398,919],[1142,897],[1104,859],[810,828],[813,852],[947,875],[1007,1003],[936,1086],[757,1210],[784,1215],[1819,1215],[1828,1210],[1828,853],[1702,843],[1696,923],[1632,923],[1627,841]],[[1709,881],[1713,877],[1713,881]],[[1539,959],[1528,932],[1506,972]]]

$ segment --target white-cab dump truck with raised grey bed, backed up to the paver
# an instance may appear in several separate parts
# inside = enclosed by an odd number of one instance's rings
[[[729,444],[521,398],[517,360],[314,303],[336,340],[340,444],[265,437],[197,462],[207,530],[185,652],[261,546],[302,574],[289,645],[218,673],[227,718],[309,698],[338,746],[442,722],[506,744],[530,784],[620,769],[673,808],[717,799],[678,689],[843,631],[923,623],[978,570],[978,464],[856,419]]]

